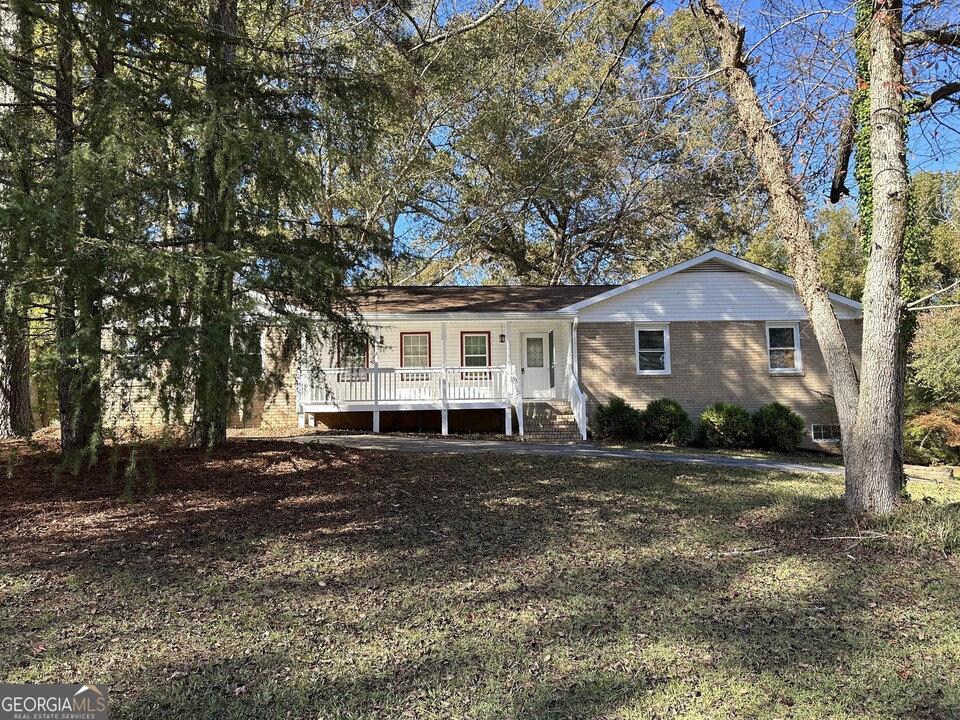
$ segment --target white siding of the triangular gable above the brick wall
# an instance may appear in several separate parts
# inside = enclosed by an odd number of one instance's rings
[[[841,320],[857,312],[835,304]],[[710,320],[803,321],[796,290],[740,270],[690,269],[629,290],[580,311],[580,322]]]

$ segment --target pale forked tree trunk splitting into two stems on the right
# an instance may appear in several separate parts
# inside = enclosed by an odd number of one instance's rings
[[[789,156],[746,69],[744,30],[730,22],[717,0],[699,0],[699,5],[719,40],[727,88],[770,193],[797,288],[826,362],[843,436],[847,507],[852,512],[888,512],[896,503],[902,474],[896,452],[900,432],[896,378],[906,163],[899,3],[881,0],[871,24],[874,198],[878,207],[887,207],[875,221],[876,237],[867,268],[862,352],[862,374],[867,380],[862,385],[823,282],[805,202],[793,181]],[[877,88],[881,83],[882,90]],[[878,182],[884,173],[889,176]]]

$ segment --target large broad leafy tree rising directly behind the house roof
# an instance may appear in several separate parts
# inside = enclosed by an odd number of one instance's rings
[[[416,159],[379,173],[401,189],[384,279],[624,280],[741,243],[762,217],[742,133],[708,84],[676,88],[708,70],[701,29],[558,1],[430,54],[410,80]]]

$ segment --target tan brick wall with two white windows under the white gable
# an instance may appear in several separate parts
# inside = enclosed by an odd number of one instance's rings
[[[842,321],[859,365],[860,321]],[[767,366],[766,323],[670,323],[670,375],[638,375],[633,323],[583,323],[579,326],[580,383],[588,414],[611,395],[643,409],[651,400],[679,402],[696,423],[714,402],[735,402],[749,411],[778,401],[811,423],[836,423],[830,381],[823,356],[808,323],[800,323],[803,372],[772,374]],[[808,442],[810,447],[830,447]]]

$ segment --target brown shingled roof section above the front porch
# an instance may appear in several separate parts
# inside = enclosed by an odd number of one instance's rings
[[[364,291],[364,313],[551,312],[617,285],[435,285],[379,287]]]

